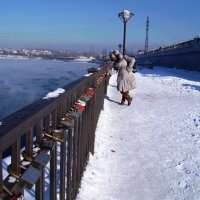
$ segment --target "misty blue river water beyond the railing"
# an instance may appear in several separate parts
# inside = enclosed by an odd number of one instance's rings
[[[0,59],[0,119],[87,73],[97,64],[44,59]]]

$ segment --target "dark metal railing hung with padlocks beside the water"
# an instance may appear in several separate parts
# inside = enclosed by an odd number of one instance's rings
[[[0,199],[23,198],[24,188],[33,186],[35,199],[45,199],[46,182],[50,199],[76,198],[89,153],[94,153],[95,129],[108,85],[107,65],[68,84],[59,97],[40,99],[3,119]],[[6,151],[11,161],[9,175],[3,178]]]

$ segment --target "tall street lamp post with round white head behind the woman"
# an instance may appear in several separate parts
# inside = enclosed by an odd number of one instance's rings
[[[125,49],[126,49],[126,23],[133,15],[134,14],[128,10],[123,10],[118,14],[118,17],[124,23],[123,55],[125,55]]]

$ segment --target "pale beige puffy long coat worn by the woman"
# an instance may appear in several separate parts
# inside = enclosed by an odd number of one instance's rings
[[[133,65],[135,59],[124,56],[118,62],[114,62],[114,70],[111,75],[118,72],[117,75],[117,90],[120,92],[130,91],[135,88],[136,81],[133,73]]]

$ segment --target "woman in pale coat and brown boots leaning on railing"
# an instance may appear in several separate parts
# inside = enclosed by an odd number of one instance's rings
[[[118,72],[117,76],[117,90],[122,94],[121,105],[124,105],[125,100],[128,101],[128,105],[131,105],[132,97],[129,95],[129,91],[135,88],[135,76],[133,73],[133,66],[135,59],[128,56],[123,56],[118,50],[110,53],[111,61],[113,61],[113,71],[110,71],[110,75]]]

